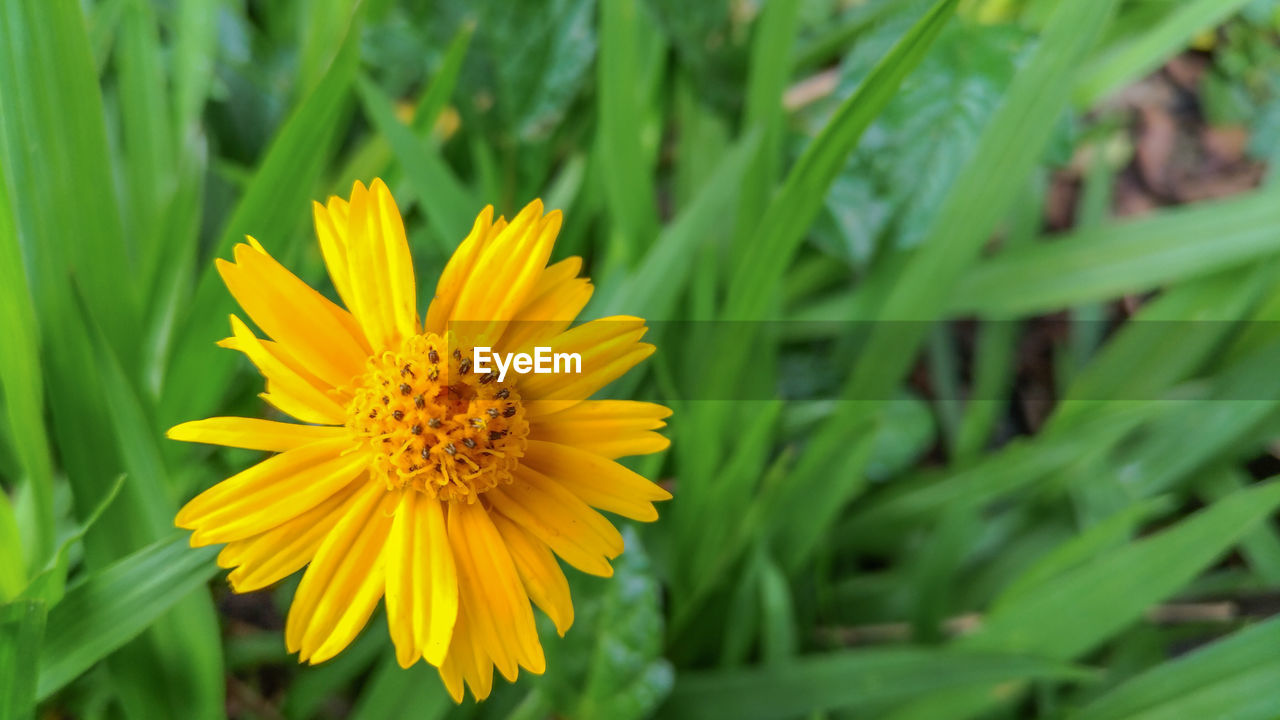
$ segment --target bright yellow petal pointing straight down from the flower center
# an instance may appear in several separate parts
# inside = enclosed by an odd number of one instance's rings
[[[406,492],[387,543],[387,624],[396,657],[408,667],[425,657],[439,666],[458,614],[458,580],[435,498]]]

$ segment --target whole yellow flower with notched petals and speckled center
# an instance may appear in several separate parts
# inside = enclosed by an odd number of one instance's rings
[[[360,633],[385,597],[396,656],[439,667],[488,697],[497,666],[545,669],[530,600],[561,634],[573,621],[554,555],[612,574],[622,537],[599,512],[658,518],[671,495],[614,459],[664,450],[669,410],[585,400],[653,352],[644,320],[570,328],[591,284],[581,260],[547,265],[559,211],[534,201],[511,223],[486,208],[453,254],[426,318],[399,210],[375,179],[351,201],[315,204],[316,233],[348,310],[310,288],[261,245],[218,261],[227,287],[271,340],[232,315],[219,345],[266,378],[262,398],[307,424],[210,418],[180,441],[278,452],[178,512],[193,546],[227,543],[237,592],[306,566],[285,628],[300,661],[321,662]],[[498,379],[474,348],[577,354],[580,373]],[[566,363],[567,365],[567,363]],[[568,369],[567,366],[563,369]]]

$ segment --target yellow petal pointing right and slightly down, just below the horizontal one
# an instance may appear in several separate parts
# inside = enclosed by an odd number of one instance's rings
[[[600,510],[649,523],[658,519],[653,501],[671,493],[599,455],[564,445],[530,441],[524,464],[543,473]]]

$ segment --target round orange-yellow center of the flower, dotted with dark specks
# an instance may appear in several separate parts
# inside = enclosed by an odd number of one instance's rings
[[[388,489],[413,488],[474,502],[509,483],[529,421],[520,393],[471,369],[471,348],[435,333],[369,359],[347,407],[347,428],[367,441]]]

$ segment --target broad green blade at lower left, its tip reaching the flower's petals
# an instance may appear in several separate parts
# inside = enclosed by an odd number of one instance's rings
[[[193,550],[177,533],[73,585],[49,612],[40,650],[44,700],[146,629],[218,573],[216,547]]]

